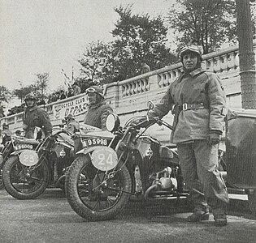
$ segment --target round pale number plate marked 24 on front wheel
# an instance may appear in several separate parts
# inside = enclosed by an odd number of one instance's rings
[[[101,147],[93,151],[91,156],[95,168],[102,171],[111,170],[117,164],[117,155],[111,147]]]

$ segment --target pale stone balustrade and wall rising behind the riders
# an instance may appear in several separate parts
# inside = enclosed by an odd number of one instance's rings
[[[254,53],[255,49],[256,41],[254,40]],[[202,67],[215,72],[222,79],[223,87],[227,95],[228,106],[230,108],[241,108],[241,80],[239,76],[238,47],[234,46],[219,50],[215,53],[208,53],[203,55],[202,58]],[[147,101],[153,100],[153,102],[157,102],[161,96],[163,96],[163,93],[166,92],[170,83],[180,75],[181,71],[181,63],[177,63],[132,77],[131,79],[109,83],[104,87],[106,101],[111,104],[115,113],[119,115],[121,122],[125,122],[132,116],[145,113]],[[63,119],[63,117],[56,117],[55,108],[61,106],[58,104],[73,105],[73,110],[76,110],[75,106],[78,105],[77,102],[80,102],[79,99],[83,100],[85,106],[85,94],[80,94],[76,97],[46,104],[44,108],[47,113],[50,114],[51,121],[57,124]],[[63,109],[67,109],[67,107],[65,108],[65,105],[63,105]],[[85,111],[85,109],[82,110]],[[67,114],[67,112],[67,110],[62,111],[62,114]],[[83,114],[79,113],[76,119],[82,121]],[[170,115],[167,116],[167,119],[170,119]],[[0,124],[2,125],[3,122],[10,124],[12,130],[20,129],[22,125],[22,113],[3,117],[0,119]]]

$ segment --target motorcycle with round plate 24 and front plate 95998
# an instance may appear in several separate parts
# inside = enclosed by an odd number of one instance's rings
[[[152,125],[141,129],[147,122],[147,116],[132,117],[122,128],[111,113],[106,128],[112,133],[76,134],[77,157],[67,173],[66,196],[78,215],[93,221],[110,220],[131,196],[142,195],[145,200],[189,196],[176,150],[145,135]],[[151,122],[172,130],[158,117]]]

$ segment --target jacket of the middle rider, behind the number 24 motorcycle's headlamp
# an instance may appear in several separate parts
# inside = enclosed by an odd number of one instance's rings
[[[112,113],[113,109],[105,102],[89,105],[88,111],[85,113],[84,123],[90,126],[96,126],[102,130],[106,130],[106,117]]]

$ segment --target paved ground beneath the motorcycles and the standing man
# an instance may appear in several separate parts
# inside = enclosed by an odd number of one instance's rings
[[[256,242],[256,219],[240,197],[230,204],[228,226],[218,228],[212,215],[207,222],[186,222],[185,203],[129,203],[116,220],[88,222],[72,211],[61,190],[28,201],[1,190],[0,242]]]

